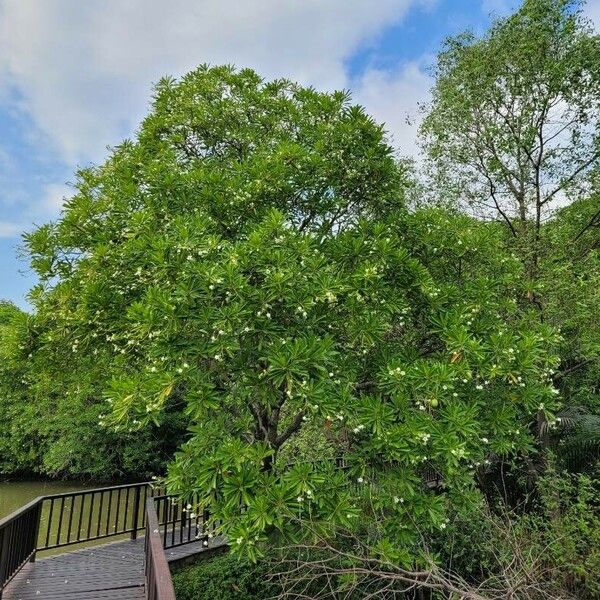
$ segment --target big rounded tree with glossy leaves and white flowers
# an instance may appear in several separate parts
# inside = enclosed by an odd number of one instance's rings
[[[43,347],[102,357],[108,428],[184,403],[169,487],[199,494],[250,556],[302,534],[290,515],[351,526],[377,486],[374,552],[407,560],[558,406],[556,334],[518,310],[522,265],[492,251],[502,231],[410,215],[408,185],[347,94],[200,67],[161,82],[136,139],[28,236]],[[286,465],[305,427],[347,468]]]

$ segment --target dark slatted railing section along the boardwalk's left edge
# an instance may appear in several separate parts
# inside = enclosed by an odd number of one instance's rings
[[[0,598],[6,584],[35,560],[42,500],[36,498],[0,520]]]

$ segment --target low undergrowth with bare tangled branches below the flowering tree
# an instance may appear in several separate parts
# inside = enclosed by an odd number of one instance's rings
[[[279,597],[428,600],[592,600],[598,597],[600,512],[598,479],[552,468],[537,480],[535,506],[511,510],[480,498],[468,514],[451,510],[448,526],[420,540],[420,563],[403,568],[374,555],[373,513],[352,531],[294,544],[272,572]],[[310,519],[304,522],[312,527]]]

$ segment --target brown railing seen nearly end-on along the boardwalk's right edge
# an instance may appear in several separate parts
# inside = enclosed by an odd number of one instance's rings
[[[144,540],[146,599],[175,600],[171,571],[160,537],[154,500],[146,501],[146,537]]]

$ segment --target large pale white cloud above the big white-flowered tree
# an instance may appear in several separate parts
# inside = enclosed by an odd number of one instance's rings
[[[65,160],[100,160],[147,110],[151,82],[202,62],[347,86],[361,44],[431,0],[0,0],[0,88]]]

